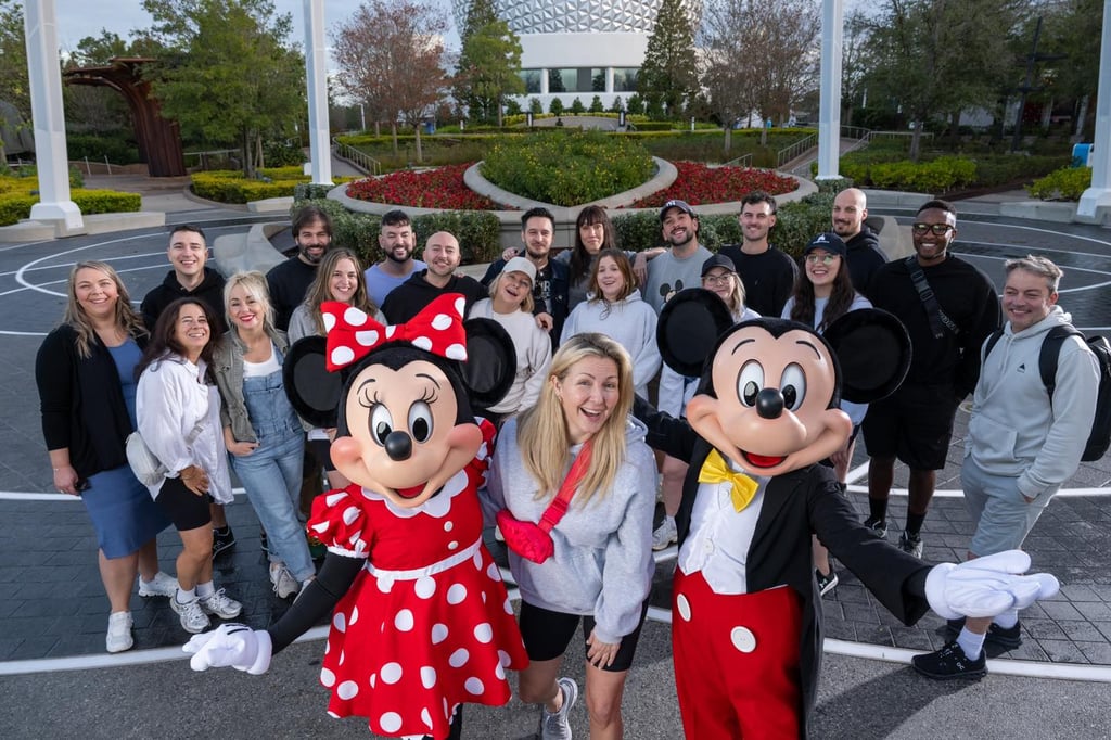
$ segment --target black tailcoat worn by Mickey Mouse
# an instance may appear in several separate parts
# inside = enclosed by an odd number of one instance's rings
[[[713,448],[684,420],[657,411],[643,399],[637,399],[633,414],[648,426],[645,441],[650,447],[690,461],[675,516],[682,546],[690,532],[699,471]],[[772,478],[764,491],[744,576],[750,592],[785,583],[802,599],[799,673],[803,727],[814,707],[822,657],[821,597],[814,583],[811,533],[817,533],[904,624],[917,622],[929,608],[924,587],[930,568],[861,524],[830,468],[813,464]]]

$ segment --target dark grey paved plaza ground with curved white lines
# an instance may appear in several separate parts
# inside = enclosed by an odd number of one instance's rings
[[[141,183],[139,183],[141,184]],[[144,206],[167,212],[168,222],[199,221],[214,240],[221,233],[242,231],[258,220],[242,211],[213,209],[186,200],[176,189],[150,190]],[[961,204],[957,251],[1002,283],[1002,260],[1028,251],[1048,254],[1065,269],[1062,304],[1084,329],[1111,330],[1111,308],[1105,286],[1111,276],[1111,231],[1095,227],[1035,222],[1000,223],[992,202]],[[900,220],[910,213],[888,211]],[[905,217],[905,218],[904,218]],[[268,217],[264,220],[272,220]],[[159,659],[158,648],[180,644],[186,634],[164,599],[132,598],[137,650],[127,657],[103,653],[107,600],[97,574],[92,530],[83,508],[72,500],[39,500],[32,493],[51,490],[50,470],[38,422],[38,399],[31,374],[42,334],[60,318],[62,292],[76,260],[108,259],[121,271],[132,298],[157,284],[167,269],[164,230],[121,232],[60,241],[16,244],[0,249],[0,337],[3,351],[0,382],[0,704],[3,737],[73,734],[88,737],[164,737],[214,734],[217,724],[233,736],[330,734],[367,737],[359,721],[331,722],[323,714],[324,700],[313,674],[319,667],[319,642],[291,648],[262,678],[238,673],[192,676],[180,661],[152,666],[124,666],[146,657]],[[939,489],[957,492],[965,414],[958,419],[949,464],[939,476]],[[858,451],[858,463],[864,461]],[[863,480],[858,481],[862,483]],[[900,471],[897,484],[905,484]],[[1067,486],[1083,489],[1061,496],[1047,510],[1027,544],[1035,567],[1054,572],[1064,584],[1053,601],[1023,614],[1024,643],[992,663],[997,676],[979,684],[945,686],[918,678],[905,664],[882,663],[828,656],[815,717],[815,737],[949,737],[1012,738],[1043,734],[1111,738],[1107,682],[1071,682],[1014,678],[1003,673],[1031,671],[1034,676],[1065,676],[1111,680],[1111,513],[1099,489],[1111,484],[1111,461],[1085,463]],[[862,493],[853,494],[863,512]],[[890,538],[899,533],[904,499],[892,507]],[[263,627],[278,618],[286,603],[273,597],[258,548],[258,524],[242,497],[229,507],[239,537],[233,553],[218,564],[221,586],[244,603],[244,620]],[[963,554],[971,522],[955,496],[939,496],[925,523],[925,559],[957,560]],[[177,538],[160,538],[160,554],[172,570]],[[665,604],[670,564],[661,564],[657,601]],[[941,644],[941,620],[923,618],[915,628],[899,626],[878,608],[852,577],[825,603],[831,642],[838,650],[884,652],[904,658],[907,650],[930,650]],[[650,623],[625,698],[628,737],[663,738],[680,733],[669,663],[668,629]],[[166,651],[166,656],[176,654]],[[77,657],[77,658],[74,658]],[[81,658],[86,657],[86,658]],[[50,666],[34,661],[59,659],[63,667],[104,658],[114,668],[49,673]],[[72,660],[67,660],[72,659]],[[1032,664],[1033,668],[1029,668]],[[581,674],[572,661],[572,674]],[[57,666],[56,666],[57,667]],[[1040,667],[1040,668],[1039,668]],[[137,692],[137,687],[149,687]],[[213,700],[213,697],[219,697]],[[59,700],[66,710],[59,711]],[[148,711],[150,698],[159,707]],[[178,709],[182,711],[176,711]],[[164,711],[170,709],[170,711]],[[193,713],[211,730],[186,721]],[[953,712],[961,717],[954,724]],[[507,709],[474,710],[469,714],[470,737],[522,737],[532,731],[534,713],[516,701]],[[573,724],[584,728],[581,707]]]

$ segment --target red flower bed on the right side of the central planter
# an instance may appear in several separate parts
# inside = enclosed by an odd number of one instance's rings
[[[771,170],[748,167],[710,168],[699,162],[674,162],[679,177],[670,188],[641,198],[631,208],[660,208],[672,198],[685,200],[691,206],[728,203],[740,200],[753,190],[772,196],[791,192],[798,188],[794,178],[784,178]]]

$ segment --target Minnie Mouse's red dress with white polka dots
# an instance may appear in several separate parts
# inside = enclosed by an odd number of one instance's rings
[[[317,498],[309,530],[367,558],[339,601],[320,682],[333,717],[383,736],[447,737],[460,703],[500,706],[509,669],[528,664],[506,587],[486,546],[478,488],[492,439],[416,509],[359,486]],[[488,433],[489,432],[489,433]]]

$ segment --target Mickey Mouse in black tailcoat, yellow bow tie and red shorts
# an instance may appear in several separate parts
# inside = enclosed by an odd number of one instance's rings
[[[847,313],[823,338],[782,319],[733,326],[717,296],[695,289],[668,302],[657,339],[672,369],[701,373],[685,420],[641,399],[633,409],[651,447],[691,463],[672,589],[688,738],[807,734],[822,646],[812,532],[907,624],[928,606],[951,618],[1057,591],[1052,576],[1012,574],[1029,567],[1023,553],[930,568],[861,526],[832,469],[817,464],[852,428],[838,408],[840,368],[858,402],[890,393],[907,372],[910,342],[891,314]]]

